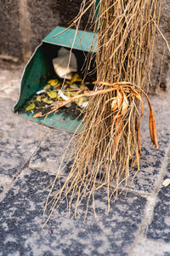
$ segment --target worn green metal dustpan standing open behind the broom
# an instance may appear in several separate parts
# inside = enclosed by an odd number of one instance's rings
[[[54,37],[56,34],[58,36]],[[94,48],[91,45],[94,42]],[[14,112],[18,112],[21,116],[43,122],[44,117],[33,119],[31,113],[23,113],[20,108],[29,100],[38,90],[41,90],[48,79],[54,77],[54,66],[52,60],[57,56],[57,52],[61,47],[71,49],[77,57],[77,72],[82,72],[85,55],[89,51],[96,52],[97,36],[93,32],[76,31],[75,29],[67,29],[57,26],[46,38],[42,40],[31,56],[30,61],[26,65],[20,85],[19,101],[14,106]],[[45,120],[44,125],[60,128],[67,131],[75,131],[81,120],[72,119],[71,116],[63,113],[50,114]]]

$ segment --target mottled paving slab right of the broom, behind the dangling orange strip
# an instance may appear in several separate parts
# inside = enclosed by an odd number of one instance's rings
[[[150,102],[156,119],[159,148],[155,149],[150,141],[149,108],[145,104],[145,113],[141,124],[142,156],[140,158],[140,170],[130,187],[130,189],[145,195],[151,195],[156,189],[156,182],[170,143],[170,95],[162,93],[161,95],[150,96]]]

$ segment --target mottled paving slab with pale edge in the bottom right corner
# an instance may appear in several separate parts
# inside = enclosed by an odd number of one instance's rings
[[[139,226],[133,245],[127,248],[127,253],[136,255],[170,255],[170,221],[169,221],[169,186],[162,182],[170,177],[170,147],[162,163],[156,189],[147,197],[144,216]]]

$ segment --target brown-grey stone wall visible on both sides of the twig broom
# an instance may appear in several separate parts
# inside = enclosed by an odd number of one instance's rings
[[[68,26],[82,0],[0,0],[0,59],[26,62],[55,26]],[[88,20],[81,21],[83,29]],[[160,29],[170,43],[170,2],[162,0]],[[153,88],[170,88],[170,53],[158,32],[151,82]]]

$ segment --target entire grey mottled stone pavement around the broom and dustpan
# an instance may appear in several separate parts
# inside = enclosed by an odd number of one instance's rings
[[[0,255],[170,255],[170,186],[162,186],[170,177],[170,96],[150,96],[159,149],[150,143],[146,115],[140,172],[111,212],[99,191],[97,219],[91,206],[85,223],[83,205],[76,220],[61,206],[42,229],[46,188],[71,134],[43,127],[38,139],[40,126],[13,113],[21,74],[21,67],[0,69]]]

